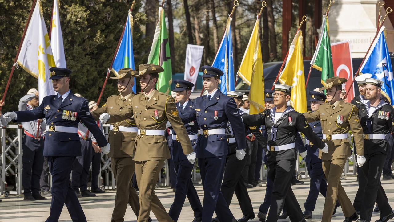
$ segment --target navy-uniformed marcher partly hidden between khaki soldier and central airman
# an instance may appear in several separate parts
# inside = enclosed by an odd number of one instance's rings
[[[198,139],[198,125],[195,115],[195,103],[189,100],[191,88],[194,84],[184,80],[175,80],[174,83],[176,87],[173,91],[176,93],[178,115],[182,119],[193,150],[195,150]],[[177,182],[175,183],[174,202],[168,214],[177,222],[187,196],[191,209],[194,212],[193,222],[201,222],[203,206],[191,181],[191,171],[193,170],[194,163],[189,162],[186,155],[183,154],[176,132],[172,134],[171,157],[175,172],[177,172]]]

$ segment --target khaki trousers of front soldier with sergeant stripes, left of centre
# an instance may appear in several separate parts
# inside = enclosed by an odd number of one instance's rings
[[[140,206],[137,222],[148,222],[151,209],[158,221],[174,222],[154,193],[164,160],[136,161],[135,163]]]

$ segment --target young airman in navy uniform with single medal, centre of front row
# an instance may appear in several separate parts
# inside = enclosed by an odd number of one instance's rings
[[[219,221],[237,221],[220,192],[229,143],[225,135],[227,122],[234,131],[237,142],[236,157],[245,157],[245,126],[234,98],[226,96],[217,88],[223,72],[212,66],[201,67],[204,89],[207,95],[195,100],[195,113],[200,127],[196,154],[204,188],[203,222],[211,222],[214,211]]]

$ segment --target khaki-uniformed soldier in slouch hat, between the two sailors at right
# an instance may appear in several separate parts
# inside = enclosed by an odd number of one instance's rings
[[[355,221],[359,217],[351,204],[344,188],[340,182],[340,176],[350,156],[350,145],[347,133],[352,131],[357,148],[357,163],[362,166],[364,158],[363,131],[360,126],[358,109],[351,103],[340,99],[342,84],[347,80],[333,77],[327,79],[326,87],[319,88],[327,90],[327,102],[320,105],[313,113],[304,113],[308,122],[319,121],[322,124],[323,141],[327,143],[328,153],[319,151],[319,158],[323,160],[323,171],[327,178],[327,194],[324,203],[322,222],[331,221],[336,199],[342,207],[345,222]]]

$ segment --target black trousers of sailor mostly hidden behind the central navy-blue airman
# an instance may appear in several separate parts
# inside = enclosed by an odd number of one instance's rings
[[[245,181],[241,176],[245,163],[246,156],[243,160],[238,160],[235,152],[228,154],[223,182],[220,188],[228,206],[230,206],[232,196],[235,192],[243,215],[253,214],[252,202],[247,193]]]

